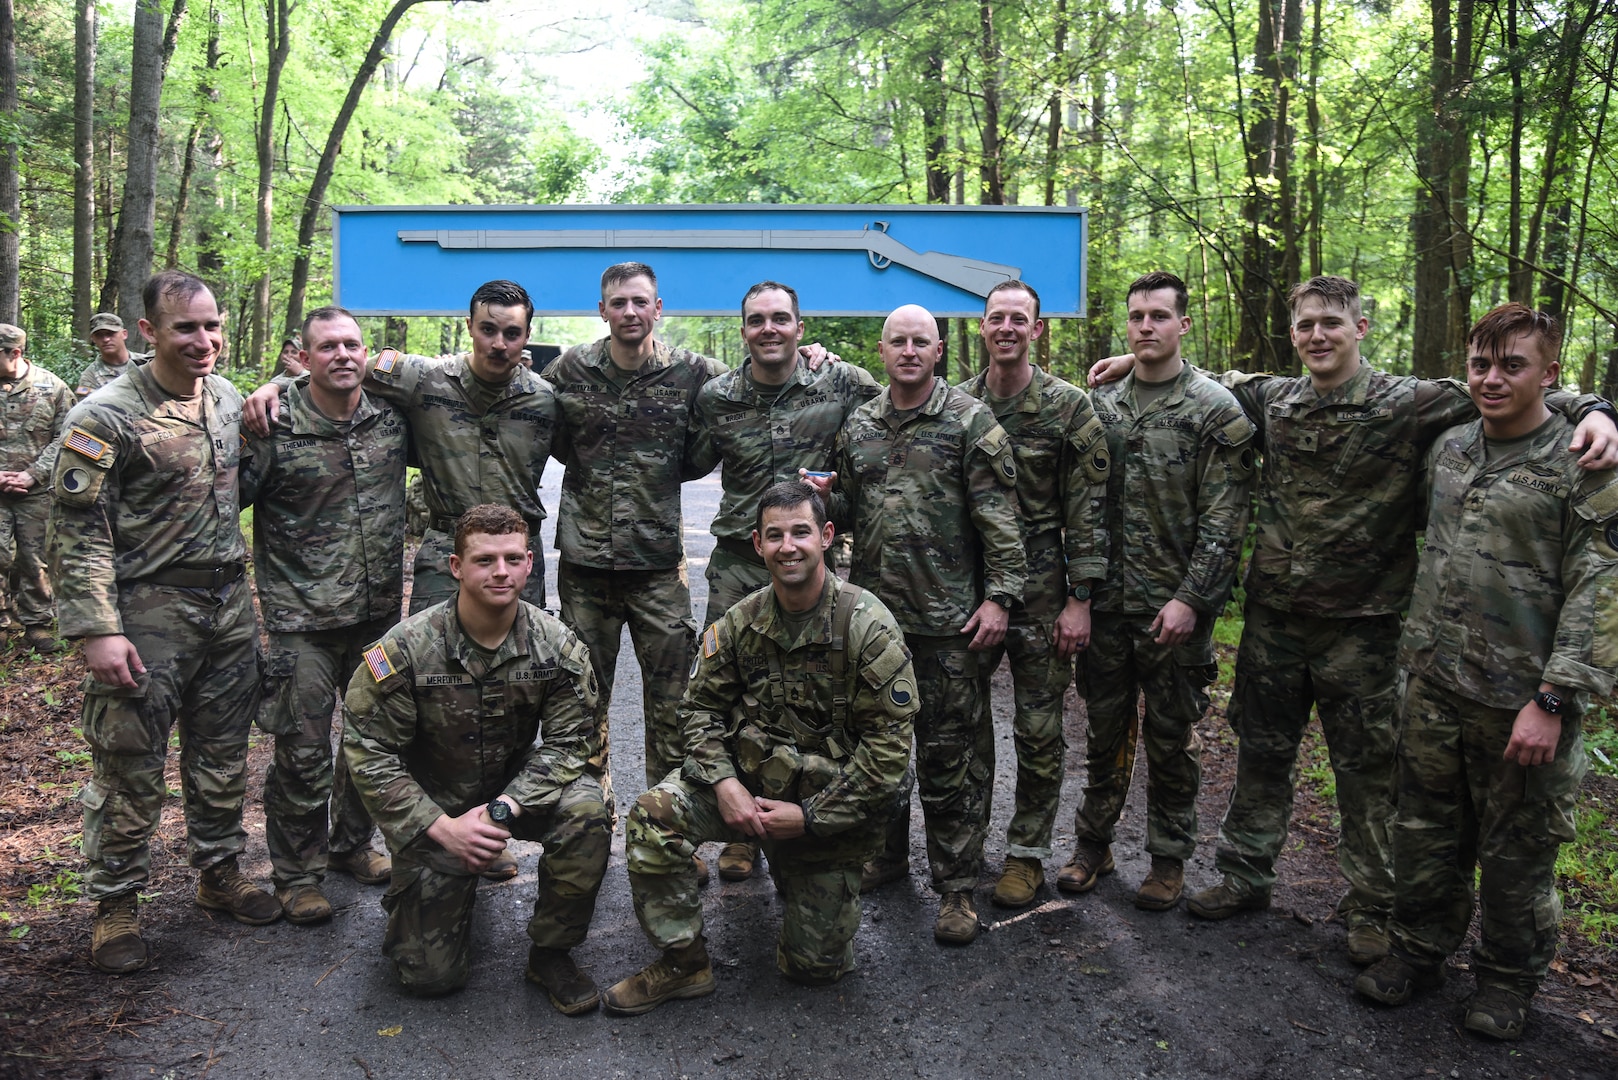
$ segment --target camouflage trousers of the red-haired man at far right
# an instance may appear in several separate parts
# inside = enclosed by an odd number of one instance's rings
[[[1505,759],[1516,709],[1492,709],[1409,675],[1400,709],[1393,821],[1393,947],[1438,967],[1461,947],[1479,874],[1479,984],[1531,996],[1557,955],[1557,850],[1573,839],[1584,780],[1584,735],[1568,695],[1548,764]]]

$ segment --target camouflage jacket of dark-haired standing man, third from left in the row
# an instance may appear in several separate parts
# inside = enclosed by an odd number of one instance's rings
[[[539,484],[557,434],[557,398],[544,379],[518,368],[479,415],[466,389],[471,379],[466,353],[443,361],[385,348],[371,361],[366,390],[409,423],[434,528],[492,502],[521,513],[537,536],[545,520]]]

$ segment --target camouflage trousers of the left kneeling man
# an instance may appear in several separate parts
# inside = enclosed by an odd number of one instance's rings
[[[489,797],[498,793],[490,789]],[[595,915],[612,845],[600,785],[584,776],[552,792],[511,823],[511,836],[545,845],[529,941],[540,949],[579,946]],[[382,895],[388,913],[382,954],[413,994],[461,989],[472,973],[472,907],[481,878],[426,836],[392,853],[393,878]]]

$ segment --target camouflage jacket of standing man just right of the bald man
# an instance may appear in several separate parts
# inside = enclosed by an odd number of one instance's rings
[[[1068,588],[1099,585],[1107,576],[1107,437],[1091,408],[1091,397],[1057,376],[1034,368],[1014,400],[989,402],[989,372],[961,384],[995,410],[1016,455],[1016,499],[1023,510],[1023,542],[1061,539]],[[1024,596],[1042,615],[1061,610],[1065,596]]]

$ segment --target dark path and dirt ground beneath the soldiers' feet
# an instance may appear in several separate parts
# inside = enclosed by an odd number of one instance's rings
[[[688,486],[688,520],[705,523],[712,481]],[[696,610],[704,607],[705,533],[688,528]],[[553,568],[553,567],[552,567]],[[553,596],[553,593],[552,593]],[[639,682],[620,661],[613,742],[620,795],[639,789]],[[28,886],[76,870],[66,847],[78,831],[71,793],[83,766],[71,733],[74,662],[11,665],[0,687],[0,900],[28,912]],[[50,688],[53,704],[47,703]],[[1082,711],[1069,701],[1068,740],[1084,745]],[[1000,865],[1010,814],[1010,683],[995,680],[998,798],[990,871]],[[1214,881],[1214,832],[1230,790],[1235,748],[1223,721],[1202,724],[1205,844],[1189,868]],[[254,782],[264,746],[254,751]],[[1144,769],[1144,763],[1142,763]],[[49,779],[47,779],[49,777]],[[71,1077],[1615,1077],[1618,1009],[1610,955],[1569,949],[1514,1046],[1459,1030],[1471,988],[1451,970],[1445,989],[1400,1010],[1361,1002],[1349,983],[1332,821],[1299,806],[1269,913],[1201,923],[1184,910],[1152,915],[1129,902],[1146,874],[1144,772],[1115,845],[1118,873],[1091,894],[1053,891],[1005,913],[979,891],[985,933],[968,949],[932,941],[935,899],[925,882],[921,821],[913,874],[867,897],[856,941],[859,970],[825,989],[775,973],[778,905],[765,874],[707,891],[712,997],[649,1017],[565,1018],[523,981],[523,923],[534,897],[537,847],[516,845],[523,873],[479,894],[476,968],[461,994],[400,994],[379,952],[379,889],[328,881],[338,908],[325,926],[248,928],[191,902],[178,801],[165,813],[155,853],[155,897],[142,907],[154,960],[128,978],[87,963],[89,905],[31,920],[21,938],[0,933],[0,1075]],[[58,787],[47,787],[57,784]],[[1082,758],[1069,753],[1058,823],[1065,858]],[[262,808],[249,811],[249,873],[269,878]],[[50,852],[44,855],[44,852]],[[15,926],[15,925],[13,925]],[[3,929],[3,928],[0,928]],[[576,952],[607,983],[652,957],[634,923],[613,839],[600,907]],[[1464,962],[1464,954],[1461,957]],[[1608,1035],[1602,1035],[1603,1028]]]

